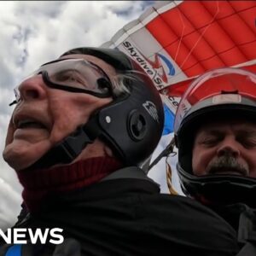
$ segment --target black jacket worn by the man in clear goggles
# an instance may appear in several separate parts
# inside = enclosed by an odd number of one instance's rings
[[[59,227],[65,241],[22,245],[15,256],[231,256],[238,251],[236,232],[223,218],[189,198],[160,194],[158,184],[137,167],[72,193],[49,195],[41,212],[16,227]],[[8,250],[2,246],[0,256]]]

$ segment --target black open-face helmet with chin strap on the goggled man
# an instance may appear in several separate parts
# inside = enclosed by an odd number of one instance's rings
[[[160,94],[135,61],[118,49],[78,48],[63,55],[94,55],[124,73],[126,92],[100,108],[89,121],[51,148],[30,168],[45,168],[72,162],[96,137],[119,156],[125,166],[143,163],[160,141],[164,112]],[[61,56],[63,56],[61,55]],[[128,92],[129,91],[129,92]]]

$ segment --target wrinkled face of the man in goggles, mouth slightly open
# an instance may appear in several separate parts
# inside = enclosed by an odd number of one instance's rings
[[[90,55],[67,55],[62,59],[77,58],[95,63],[108,77],[114,74],[113,67]],[[96,109],[112,101],[111,97],[99,98],[85,93],[49,88],[42,74],[24,80],[20,86],[18,102],[6,138],[3,158],[16,171],[31,166],[49,148],[83,125]],[[100,156],[93,145],[86,147],[87,158]],[[87,150],[87,151],[86,151]]]

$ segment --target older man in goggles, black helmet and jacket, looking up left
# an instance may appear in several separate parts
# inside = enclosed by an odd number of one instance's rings
[[[3,157],[24,187],[13,231],[32,231],[0,255],[236,253],[228,224],[189,198],[160,195],[138,167],[160,140],[163,108],[125,54],[70,50],[24,80],[15,102]],[[64,241],[33,242],[37,228],[59,228]]]

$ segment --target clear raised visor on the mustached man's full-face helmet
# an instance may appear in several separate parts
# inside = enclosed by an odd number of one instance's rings
[[[204,107],[241,104],[242,98],[256,102],[256,74],[243,69],[224,67],[207,72],[195,79],[179,102],[174,131],[178,131],[190,110],[199,108],[200,102],[210,98],[211,103],[208,103],[210,105]]]

